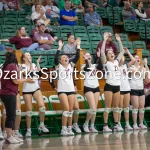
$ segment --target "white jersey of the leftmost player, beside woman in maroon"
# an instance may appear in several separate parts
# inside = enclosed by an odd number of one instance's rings
[[[33,71],[32,71],[33,73],[38,72],[37,67],[34,63],[32,63],[32,68],[33,68]],[[29,70],[30,70],[29,66],[27,66],[26,64],[22,64],[22,71],[28,72]],[[37,76],[35,78],[33,77],[33,81],[34,83],[24,82],[23,87],[22,87],[22,92],[34,92],[37,89],[39,89],[40,87],[39,87]]]

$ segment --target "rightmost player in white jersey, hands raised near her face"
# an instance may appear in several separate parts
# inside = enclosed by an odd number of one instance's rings
[[[133,129],[147,129],[147,127],[143,124],[144,120],[144,112],[145,112],[145,94],[144,94],[144,76],[145,70],[148,71],[149,68],[147,66],[147,59],[145,58],[142,63],[141,59],[138,55],[135,55],[135,63],[130,67],[131,80],[130,80],[130,88],[131,88],[131,103],[132,103],[132,118],[133,118]],[[145,68],[144,68],[145,67]],[[139,112],[139,127],[137,125],[137,114]]]

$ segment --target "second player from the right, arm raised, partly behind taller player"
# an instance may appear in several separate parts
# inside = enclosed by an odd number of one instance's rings
[[[118,124],[123,131],[123,128],[120,124],[121,113],[123,110],[125,122],[126,122],[125,130],[129,131],[133,129],[129,124],[129,104],[130,104],[130,90],[131,89],[130,89],[129,76],[128,76],[127,71],[128,71],[128,68],[134,64],[135,59],[127,48],[124,48],[124,49],[125,49],[125,52],[128,54],[128,56],[130,57],[131,61],[127,64],[124,64],[125,58],[122,57],[119,63],[119,69],[121,73],[121,85],[120,85],[119,120],[118,120],[119,123]]]

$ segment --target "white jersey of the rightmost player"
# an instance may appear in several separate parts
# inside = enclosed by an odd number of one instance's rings
[[[139,67],[140,68],[140,67]],[[134,65],[130,67],[130,70],[136,70],[138,71],[139,68],[136,68]],[[144,67],[141,71],[141,77],[140,75],[135,75],[132,74],[131,75],[131,79],[130,79],[130,88],[133,90],[143,90],[144,89]]]

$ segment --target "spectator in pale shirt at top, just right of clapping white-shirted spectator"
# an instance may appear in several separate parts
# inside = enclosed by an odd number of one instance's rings
[[[58,7],[54,6],[52,0],[48,0],[47,1],[47,5],[45,6],[45,10],[46,10],[46,17],[47,18],[56,18],[57,20],[59,19],[59,13],[60,10],[58,9]]]

